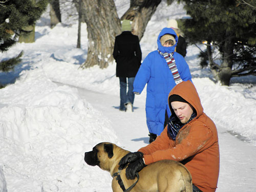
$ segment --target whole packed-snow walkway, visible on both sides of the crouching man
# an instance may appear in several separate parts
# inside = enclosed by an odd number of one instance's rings
[[[119,111],[119,97],[77,88],[81,98],[110,119],[121,146],[137,151],[148,144],[144,103],[135,98],[133,113]],[[219,192],[256,191],[256,147],[230,135],[217,124],[220,144]]]

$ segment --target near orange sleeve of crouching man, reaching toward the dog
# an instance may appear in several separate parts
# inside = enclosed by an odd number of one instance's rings
[[[190,129],[190,127],[188,127]],[[182,135],[180,135],[182,137]],[[160,138],[159,138],[160,139]],[[166,142],[166,141],[165,141]],[[177,142],[177,139],[176,139]],[[194,156],[212,145],[212,132],[206,126],[197,126],[196,130],[191,128],[189,134],[174,147],[165,148],[144,155],[145,164],[150,164],[163,159],[182,161]],[[143,151],[141,151],[143,153]]]

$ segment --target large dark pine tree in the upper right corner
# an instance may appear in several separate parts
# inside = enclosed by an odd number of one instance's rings
[[[218,81],[228,86],[231,77],[256,75],[255,0],[179,2],[191,16],[181,29],[190,44],[207,42],[201,63],[209,64]]]

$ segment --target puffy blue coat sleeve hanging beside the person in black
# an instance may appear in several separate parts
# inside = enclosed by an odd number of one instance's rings
[[[146,83],[151,77],[151,59],[147,55],[143,60],[138,73],[135,76],[133,83],[133,92],[138,92],[139,94],[143,91]]]

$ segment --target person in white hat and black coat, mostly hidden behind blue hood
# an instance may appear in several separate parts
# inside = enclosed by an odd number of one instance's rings
[[[167,25],[168,28],[172,28],[177,36],[178,36],[178,42],[177,42],[177,46],[176,46],[176,52],[181,54],[183,57],[186,56],[186,53],[187,53],[187,42],[185,40],[184,37],[182,37],[180,35],[180,29],[178,28],[178,23],[175,19],[170,19],[168,21],[168,25]]]

